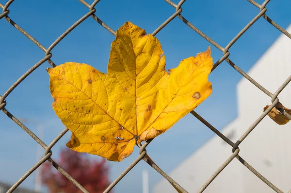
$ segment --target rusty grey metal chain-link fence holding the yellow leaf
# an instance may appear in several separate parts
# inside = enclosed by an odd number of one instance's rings
[[[50,46],[49,48],[45,48],[41,43],[39,43],[36,39],[34,39],[30,34],[28,34],[24,29],[22,29],[20,26],[18,26],[11,18],[9,18],[9,6],[13,3],[14,0],[9,0],[5,5],[2,5],[0,3],[0,8],[2,9],[2,14],[0,14],[0,19],[6,19],[11,25],[13,25],[19,32],[21,32],[23,35],[25,35],[27,38],[29,38],[34,44],[36,44],[42,51],[45,52],[45,56],[37,62],[30,70],[25,72],[2,96],[0,96],[0,110],[4,114],[6,114],[10,119],[12,119],[16,124],[18,124],[28,135],[32,137],[33,140],[37,141],[39,145],[41,145],[45,149],[45,156],[41,158],[25,175],[19,178],[19,180],[7,191],[7,193],[12,193],[18,187],[29,175],[32,174],[34,170],[36,170],[41,164],[43,164],[45,161],[49,161],[59,172],[61,172],[65,177],[67,177],[73,184],[75,184],[83,193],[88,193],[74,178],[72,178],[64,169],[62,169],[51,157],[52,152],[51,148],[56,144],[58,140],[60,140],[65,133],[68,131],[67,128],[65,128],[58,136],[55,138],[49,145],[46,145],[42,140],[40,140],[29,128],[27,128],[23,123],[21,123],[13,114],[11,114],[6,108],[6,101],[5,98],[13,91],[14,88],[16,88],[27,76],[29,76],[33,70],[37,69],[40,65],[42,65],[44,62],[48,61],[49,64],[52,67],[55,67],[56,65],[53,63],[50,58],[52,57],[52,50],[53,48],[60,42],[62,39],[68,35],[72,30],[74,30],[81,22],[83,22],[85,19],[89,18],[90,16],[97,21],[101,26],[103,26],[108,32],[110,32],[113,35],[116,35],[116,33],[107,26],[102,20],[100,20],[96,15],[96,9],[95,6],[97,6],[97,3],[100,0],[95,0],[91,5],[88,4],[85,0],[79,0],[84,6],[86,6],[89,9],[89,12],[85,14],[83,17],[81,17],[78,21],[76,21],[70,28],[68,28],[61,36],[59,36]],[[257,3],[254,0],[248,0],[250,3],[252,3],[254,6],[258,7],[258,15],[253,18],[243,29],[242,31],[237,34],[228,44],[225,48],[220,46],[218,43],[213,41],[209,36],[205,35],[203,32],[201,32],[199,29],[197,29],[193,24],[191,24],[186,18],[184,18],[182,13],[182,4],[186,0],[180,0],[178,4],[175,4],[171,0],[165,0],[167,3],[169,3],[171,6],[174,7],[175,13],[170,16],[167,20],[165,20],[153,33],[152,35],[157,35],[167,24],[169,24],[174,18],[178,17],[182,22],[184,22],[187,26],[189,26],[194,32],[201,35],[203,38],[205,38],[207,41],[209,41],[213,46],[215,46],[217,49],[219,49],[222,52],[222,57],[213,65],[213,70],[215,70],[224,60],[235,70],[237,70],[239,73],[242,74],[244,78],[246,78],[248,81],[253,83],[258,89],[263,91],[266,95],[268,95],[271,98],[272,105],[268,107],[266,111],[264,111],[259,118],[245,131],[245,133],[240,137],[239,140],[236,142],[233,142],[229,140],[226,136],[224,136],[222,133],[220,133],[214,126],[212,126],[210,123],[208,123],[205,119],[203,119],[200,115],[198,115],[195,111],[192,111],[191,114],[196,117],[198,120],[200,120],[202,123],[204,123],[207,127],[210,128],[216,135],[218,135],[222,140],[225,140],[226,143],[228,143],[230,146],[232,146],[232,155],[226,159],[226,161],[217,169],[217,171],[210,176],[210,178],[205,182],[205,184],[198,190],[198,193],[202,193],[207,186],[213,181],[213,179],[220,174],[224,168],[234,159],[237,158],[246,168],[248,168],[254,175],[256,175],[260,180],[262,180],[264,183],[266,183],[270,188],[272,188],[277,193],[283,193],[281,190],[279,190],[275,185],[272,184],[268,179],[266,179],[263,175],[259,174],[258,171],[256,171],[255,168],[253,168],[251,165],[249,165],[240,155],[240,143],[250,134],[250,132],[255,129],[255,127],[261,122],[265,116],[271,111],[273,107],[276,107],[277,103],[279,102],[279,99],[277,96],[279,93],[288,85],[288,83],[291,81],[291,76],[276,90],[275,93],[271,93],[266,88],[263,88],[259,83],[257,83],[253,78],[251,78],[248,74],[246,74],[244,71],[242,71],[238,66],[236,66],[228,57],[230,53],[228,52],[229,48],[260,18],[263,17],[267,20],[271,25],[273,25],[276,29],[278,29],[281,33],[284,35],[287,35],[289,38],[291,38],[291,34],[289,34],[286,30],[281,28],[278,24],[275,23],[271,18],[269,18],[266,15],[266,5],[270,2],[270,0],[265,0],[261,5]],[[287,118],[291,119],[291,115],[289,115],[287,112],[285,112],[282,109],[278,109],[281,111]],[[142,159],[146,161],[154,170],[156,170],[158,173],[160,173],[165,179],[167,179],[177,190],[179,190],[181,193],[187,193],[186,190],[183,189],[177,182],[175,182],[169,175],[164,173],[162,169],[157,166],[154,161],[146,154],[146,146],[149,145],[149,143],[152,141],[147,140],[142,146],[139,146],[140,148],[140,156],[138,156],[129,166],[126,170],[124,170],[104,191],[104,193],[109,193],[113,187],[125,176],[127,173]],[[290,191],[291,193],[291,191]]]

